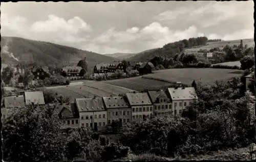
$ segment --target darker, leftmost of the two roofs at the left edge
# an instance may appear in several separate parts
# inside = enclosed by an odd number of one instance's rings
[[[13,108],[25,105],[25,99],[23,95],[4,97],[4,104],[6,108]]]

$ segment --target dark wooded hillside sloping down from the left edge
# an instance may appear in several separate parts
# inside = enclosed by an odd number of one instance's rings
[[[29,63],[37,62],[42,65],[76,65],[79,60],[87,57],[88,69],[91,72],[96,63],[113,62],[113,58],[100,55],[99,53],[17,37],[2,37],[2,47],[6,45],[7,41],[9,52],[12,52],[14,57],[18,58],[19,61],[27,61]],[[2,53],[2,61],[5,64],[16,63],[13,58],[4,53]]]

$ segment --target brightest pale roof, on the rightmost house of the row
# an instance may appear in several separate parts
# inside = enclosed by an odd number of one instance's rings
[[[172,100],[189,100],[189,99],[198,99],[194,87],[182,87],[179,88],[168,88],[170,97]],[[196,98],[195,98],[196,96]]]

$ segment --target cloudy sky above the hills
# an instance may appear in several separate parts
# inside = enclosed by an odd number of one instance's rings
[[[207,36],[253,38],[253,1],[1,3],[1,34],[98,53],[140,52]]]

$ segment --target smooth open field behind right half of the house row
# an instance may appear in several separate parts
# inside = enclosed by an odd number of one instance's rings
[[[108,84],[125,87],[134,90],[155,89],[167,87],[170,83],[181,82],[191,85],[193,80],[199,80],[203,84],[214,83],[216,80],[227,80],[234,76],[241,76],[242,70],[213,69],[213,68],[184,68],[166,69],[154,71],[153,74],[143,75],[129,79],[111,80]]]

